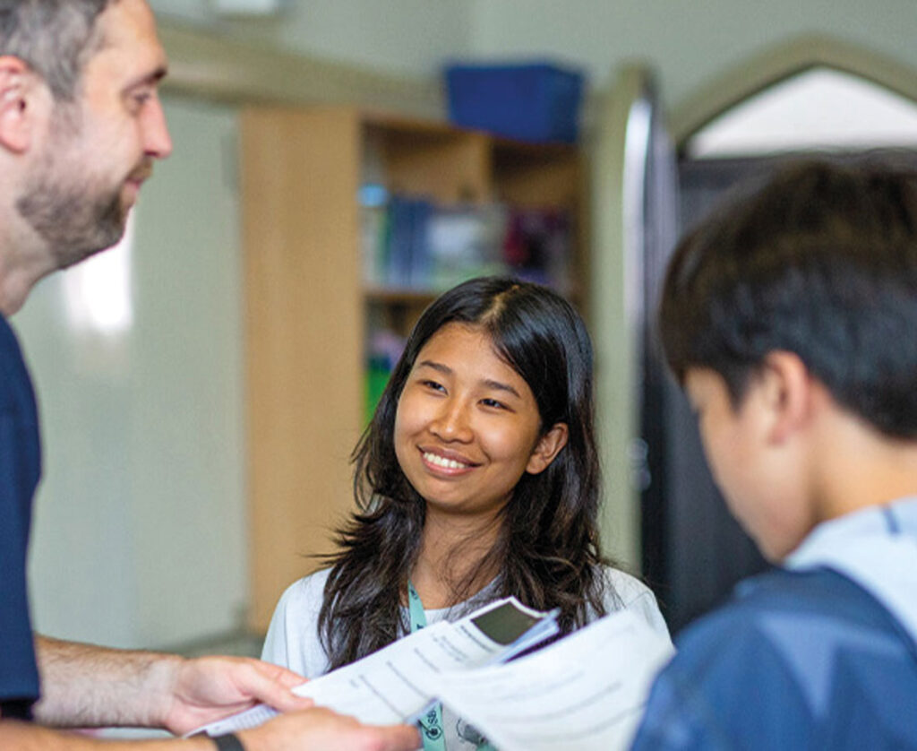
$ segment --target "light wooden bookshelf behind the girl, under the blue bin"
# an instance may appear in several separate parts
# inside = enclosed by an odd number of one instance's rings
[[[383,319],[406,333],[436,297],[362,278],[358,191],[368,173],[443,205],[558,207],[577,220],[580,152],[351,107],[253,107],[240,124],[252,608],[264,632],[282,590],[320,566],[352,508],[364,347]],[[370,156],[371,151],[371,156]],[[581,302],[581,301],[579,301]]]

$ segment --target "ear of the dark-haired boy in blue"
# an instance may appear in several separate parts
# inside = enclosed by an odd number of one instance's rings
[[[812,418],[812,374],[798,354],[778,351],[765,358],[761,379],[771,415],[768,439],[783,443]]]

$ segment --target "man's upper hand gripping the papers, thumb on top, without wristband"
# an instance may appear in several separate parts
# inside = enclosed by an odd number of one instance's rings
[[[303,710],[312,700],[293,694],[305,678],[285,667],[244,657],[200,657],[175,664],[163,693],[160,722],[184,734],[259,702],[280,712]]]

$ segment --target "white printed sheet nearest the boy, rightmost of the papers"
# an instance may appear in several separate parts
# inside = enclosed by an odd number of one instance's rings
[[[501,751],[616,751],[630,746],[653,678],[673,652],[621,611],[534,655],[424,687]]]

